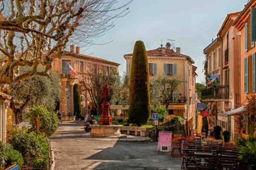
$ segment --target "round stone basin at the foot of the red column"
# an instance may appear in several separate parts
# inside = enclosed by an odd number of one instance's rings
[[[92,128],[91,136],[93,137],[121,136],[121,125],[91,125],[90,127]]]

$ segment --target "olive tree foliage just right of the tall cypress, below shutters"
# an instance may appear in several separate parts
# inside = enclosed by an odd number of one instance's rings
[[[164,103],[166,108],[173,101],[178,102],[177,90],[181,83],[178,78],[159,76],[150,80],[152,109]]]

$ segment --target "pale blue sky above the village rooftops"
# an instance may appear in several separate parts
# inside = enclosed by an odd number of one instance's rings
[[[125,0],[119,0],[120,2]],[[198,69],[198,83],[204,82],[203,49],[217,37],[228,13],[241,11],[248,0],[134,0],[130,12],[114,21],[115,27],[95,43],[81,49],[83,54],[120,63],[119,73],[126,71],[124,54],[132,53],[134,43],[142,40],[147,50],[174,39],[175,47],[190,56]]]

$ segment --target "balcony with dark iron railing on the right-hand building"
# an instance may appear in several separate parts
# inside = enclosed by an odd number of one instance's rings
[[[226,85],[219,85],[216,87],[207,88],[202,90],[202,99],[228,99],[229,87]]]

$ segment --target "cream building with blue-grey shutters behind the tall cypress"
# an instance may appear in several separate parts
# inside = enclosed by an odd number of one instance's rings
[[[166,47],[161,47],[155,50],[148,50],[148,64],[150,79],[157,76],[169,76],[181,80],[178,88],[178,93],[185,97],[185,100],[172,100],[168,106],[169,117],[182,116],[186,120],[186,131],[188,135],[196,132],[195,112],[196,112],[196,69],[194,61],[186,55],[180,53],[180,48],[176,51],[166,44]],[[133,54],[125,54],[126,73],[129,76],[131,73]]]

